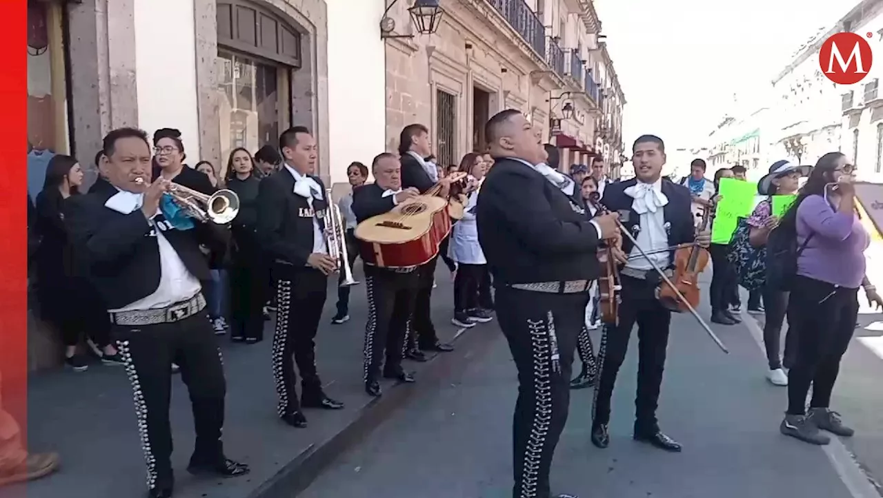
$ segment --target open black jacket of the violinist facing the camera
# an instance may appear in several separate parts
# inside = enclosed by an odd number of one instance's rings
[[[625,190],[637,182],[638,180],[632,178],[625,182],[610,183],[604,188],[604,197],[601,198],[601,204],[604,204],[608,210],[619,212],[623,227],[629,230],[633,237],[638,236],[640,216],[631,209],[634,199],[627,196]],[[693,242],[696,229],[693,226],[693,213],[690,209],[692,202],[690,190],[666,179],[662,179],[661,188],[662,193],[668,197],[668,204],[662,208],[668,231],[668,245],[675,246]],[[627,237],[623,237],[623,251],[626,254],[630,254],[633,246],[634,244]],[[672,251],[671,260],[675,260],[674,251]]]

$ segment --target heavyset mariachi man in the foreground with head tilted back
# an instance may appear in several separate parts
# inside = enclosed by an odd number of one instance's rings
[[[518,369],[512,495],[549,498],[549,468],[570,404],[570,364],[599,275],[596,251],[614,237],[616,216],[586,218],[570,197],[578,188],[543,164],[546,153],[520,111],[494,115],[485,137],[495,162],[479,192],[479,242]]]

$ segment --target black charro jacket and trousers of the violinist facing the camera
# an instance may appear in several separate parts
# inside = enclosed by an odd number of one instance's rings
[[[604,204],[608,210],[620,213],[623,227],[635,238],[647,227],[641,227],[641,217],[632,209],[634,199],[627,195],[625,190],[637,182],[631,179],[626,182],[611,183],[604,190],[604,197],[601,199],[601,204]],[[668,204],[661,208],[668,246],[693,242],[696,235],[690,190],[666,179],[660,182],[660,189],[668,198]],[[623,237],[623,252],[631,254],[633,246],[634,244],[627,237]],[[675,260],[674,253],[675,251],[669,253],[670,262]],[[656,420],[656,408],[659,403],[668,347],[668,329],[671,323],[671,312],[656,299],[655,293],[659,284],[660,277],[653,270],[647,271],[645,278],[623,275],[619,324],[604,326],[599,351],[600,375],[592,409],[592,442],[600,448],[607,447],[609,442],[610,398],[635,323],[638,323],[639,368],[634,435],[636,439],[651,442],[664,450],[679,451],[681,448],[678,443],[660,432]]]

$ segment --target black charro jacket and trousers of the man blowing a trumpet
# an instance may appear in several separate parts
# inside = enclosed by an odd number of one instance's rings
[[[102,188],[72,198],[66,206],[74,253],[109,309],[129,307],[161,288],[164,271],[174,268],[161,257],[160,234],[198,280],[209,278],[208,262],[200,244],[223,250],[229,240],[225,227],[194,222],[189,230],[171,227],[162,214],[147,220],[140,209],[124,214],[105,206],[117,190]],[[163,294],[171,294],[166,286]],[[170,295],[170,297],[172,297]],[[196,431],[191,469],[225,475],[248,472],[247,467],[223,457],[226,383],[215,334],[198,293],[191,299],[175,296],[168,305],[111,314],[117,349],[132,381],[141,441],[147,460],[151,496],[170,496],[174,477],[169,399],[171,366],[180,366],[187,379]],[[165,308],[162,308],[165,306]],[[146,308],[146,307],[145,307]],[[155,321],[144,321],[144,316]],[[135,318],[140,321],[134,321]]]

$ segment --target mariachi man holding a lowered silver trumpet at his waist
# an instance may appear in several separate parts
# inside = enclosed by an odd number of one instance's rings
[[[325,217],[328,198],[316,169],[316,140],[303,126],[283,131],[283,167],[260,181],[258,239],[272,258],[276,280],[273,376],[278,414],[294,427],[306,427],[301,406],[339,410],[328,398],[316,371],[316,331],[328,295],[328,275],[339,262],[328,256]],[[292,355],[294,361],[292,361]],[[301,398],[294,362],[300,372]]]

